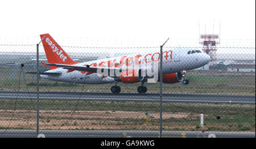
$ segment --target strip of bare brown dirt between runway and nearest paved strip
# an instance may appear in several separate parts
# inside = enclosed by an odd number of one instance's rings
[[[159,122],[159,113],[150,113],[151,120]],[[165,118],[187,118],[189,113],[163,112]],[[121,130],[159,129],[157,125],[146,125],[144,112],[126,111],[71,111],[40,110],[40,129]],[[36,129],[36,111],[0,110],[1,127]],[[171,127],[171,126],[168,126]],[[179,126],[180,128],[183,126]],[[186,128],[190,126],[184,126]],[[195,127],[195,126],[193,126]]]

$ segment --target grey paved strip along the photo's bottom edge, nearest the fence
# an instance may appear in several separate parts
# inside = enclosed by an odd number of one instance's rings
[[[159,131],[150,130],[40,130],[46,138],[158,138]],[[255,132],[238,131],[163,131],[163,138],[255,138]],[[36,130],[0,130],[0,138],[36,138]]]

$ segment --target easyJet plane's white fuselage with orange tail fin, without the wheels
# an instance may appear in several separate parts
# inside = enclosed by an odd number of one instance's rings
[[[106,59],[98,59],[95,61],[77,63],[73,61],[67,53],[57,44],[49,34],[40,35],[44,50],[46,52],[48,64],[51,70],[40,74],[41,78],[57,80],[61,82],[82,83],[82,84],[104,84],[117,82],[117,78],[121,78],[123,83],[135,83],[134,79],[138,70],[147,70],[148,66],[158,66],[160,68],[160,52],[152,51],[147,53],[130,54],[120,57],[112,57]],[[191,53],[188,54],[188,52]],[[192,53],[193,51],[193,53]],[[210,61],[210,57],[194,50],[183,50],[180,48],[173,50],[163,49],[163,75],[179,73],[183,70],[192,70],[206,65]],[[108,69],[109,71],[118,72],[113,76],[99,75],[99,69]],[[150,68],[152,70],[152,68]],[[122,70],[122,71],[119,71]],[[123,74],[125,70],[132,70],[132,73]],[[136,72],[135,72],[136,71]],[[160,69],[157,70],[159,74]],[[59,75],[51,75],[57,73]],[[130,77],[129,79],[123,79]],[[149,78],[147,74],[143,79]],[[168,79],[168,77],[167,77]],[[138,82],[142,81],[138,79]],[[168,80],[163,80],[168,82]]]

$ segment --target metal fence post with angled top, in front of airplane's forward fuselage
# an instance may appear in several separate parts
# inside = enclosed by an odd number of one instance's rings
[[[166,40],[166,42],[169,38]],[[166,44],[164,42],[164,44]],[[160,134],[159,137],[162,138],[162,125],[163,125],[163,118],[162,118],[162,96],[163,96],[163,45],[160,46]]]

